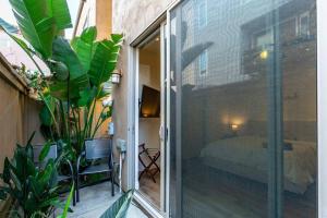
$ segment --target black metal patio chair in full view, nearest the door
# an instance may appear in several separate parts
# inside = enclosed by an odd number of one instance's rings
[[[106,159],[108,162],[90,165],[81,170],[81,159],[85,157],[86,161]],[[111,180],[111,195],[114,196],[113,181],[113,159],[112,159],[112,140],[111,138],[94,138],[85,141],[85,150],[77,159],[76,173],[76,198],[80,202],[80,175],[109,172]]]

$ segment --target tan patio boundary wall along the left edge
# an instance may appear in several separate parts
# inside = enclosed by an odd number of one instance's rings
[[[24,144],[34,131],[39,130],[40,105],[27,96],[24,81],[0,53],[0,172],[4,157],[12,157],[16,143]],[[35,143],[44,142],[37,131]]]

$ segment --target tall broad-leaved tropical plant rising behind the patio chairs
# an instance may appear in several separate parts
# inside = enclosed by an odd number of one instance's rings
[[[9,35],[24,49],[38,68],[39,75],[31,82],[44,101],[39,117],[49,140],[62,140],[74,161],[81,154],[84,140],[94,137],[111,116],[104,107],[95,117],[97,100],[108,97],[104,83],[116,69],[123,36],[96,40],[96,27],[68,41],[62,31],[71,27],[66,0],[10,0],[24,39]],[[46,75],[36,57],[50,70]]]

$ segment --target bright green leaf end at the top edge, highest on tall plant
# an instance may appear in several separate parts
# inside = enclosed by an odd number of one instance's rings
[[[58,31],[72,27],[70,10],[66,0],[48,0],[50,14],[55,17]]]

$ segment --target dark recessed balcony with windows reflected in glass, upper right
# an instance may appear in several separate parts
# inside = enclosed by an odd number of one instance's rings
[[[288,73],[294,71],[295,65],[308,65],[308,61],[315,57],[316,46],[316,12],[312,4],[312,1],[307,1],[300,4],[301,9],[298,7],[296,10],[293,2],[280,7],[278,26],[267,25],[267,21],[272,19],[272,13],[242,25],[243,74],[259,76],[266,72],[274,52],[274,40],[281,50],[282,69],[291,68]],[[274,39],[276,28],[279,35]]]

